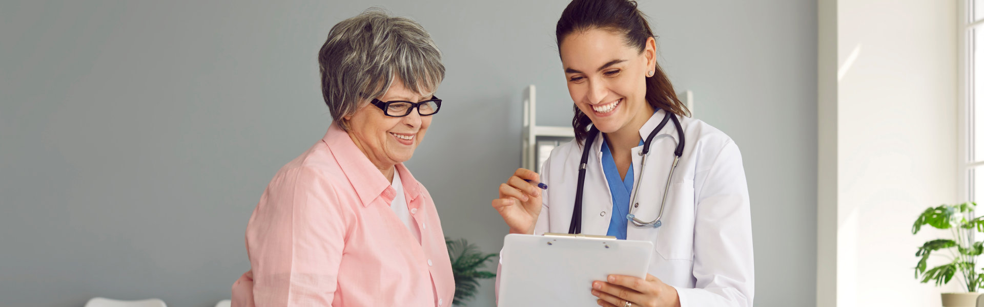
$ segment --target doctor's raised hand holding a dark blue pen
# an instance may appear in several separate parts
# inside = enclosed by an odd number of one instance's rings
[[[492,201],[492,208],[509,224],[510,233],[532,234],[543,208],[543,191],[525,179],[539,182],[540,175],[529,169],[517,169],[506,183],[499,185],[499,198]]]

